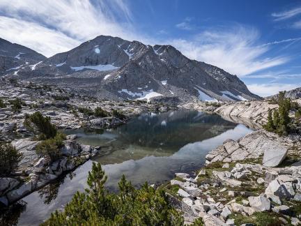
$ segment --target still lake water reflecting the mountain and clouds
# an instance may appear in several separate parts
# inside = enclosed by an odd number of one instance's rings
[[[43,222],[50,213],[62,209],[77,190],[86,188],[93,161],[102,164],[108,175],[107,189],[113,192],[122,174],[137,187],[145,181],[164,183],[175,172],[193,174],[205,163],[208,151],[250,131],[216,114],[193,110],[142,114],[108,130],[66,130],[65,133],[77,134],[79,142],[102,146],[100,154],[59,181],[24,197],[24,209],[11,217],[19,225]]]

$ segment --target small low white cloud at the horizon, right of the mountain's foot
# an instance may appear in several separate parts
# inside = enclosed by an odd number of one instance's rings
[[[263,97],[275,95],[279,91],[289,91],[291,89],[296,89],[300,86],[301,84],[247,84],[249,91]]]

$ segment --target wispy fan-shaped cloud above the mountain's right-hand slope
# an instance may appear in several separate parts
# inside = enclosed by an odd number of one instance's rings
[[[240,77],[286,63],[289,57],[263,57],[268,45],[256,45],[259,32],[236,25],[199,33],[193,40],[171,40],[187,57],[213,64]]]

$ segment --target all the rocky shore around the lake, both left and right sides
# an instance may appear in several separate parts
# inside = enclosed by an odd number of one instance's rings
[[[268,109],[277,107],[268,100],[164,106],[144,101],[97,100],[69,89],[28,82],[1,80],[1,84],[0,98],[6,103],[16,98],[22,101],[18,111],[11,106],[0,108],[0,140],[11,142],[23,153],[18,169],[0,178],[0,202],[6,206],[82,165],[101,150],[79,144],[75,135],[68,135],[60,149],[62,157],[49,165],[36,154],[39,141],[24,126],[26,114],[40,111],[61,129],[109,128],[125,123],[126,119],[87,115],[82,109],[114,109],[130,117],[186,108],[219,114],[255,131],[238,141],[226,140],[210,151],[206,166],[195,176],[179,172],[176,179],[162,185],[171,204],[183,211],[185,223],[192,224],[201,218],[204,225],[256,224],[260,213],[278,225],[301,224],[301,137],[280,137],[261,129],[267,121]]]

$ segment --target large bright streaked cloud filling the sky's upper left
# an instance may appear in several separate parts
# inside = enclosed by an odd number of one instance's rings
[[[1,0],[0,14],[1,38],[32,47],[48,57],[100,34],[137,38],[137,33],[131,32],[130,9],[122,0],[95,4],[89,0]],[[120,17],[122,22],[118,22]]]

